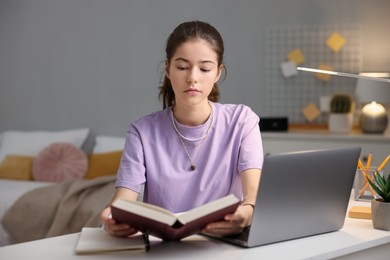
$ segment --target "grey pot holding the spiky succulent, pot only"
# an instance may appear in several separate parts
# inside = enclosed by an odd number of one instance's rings
[[[390,231],[390,203],[371,200],[372,225],[375,229]]]

